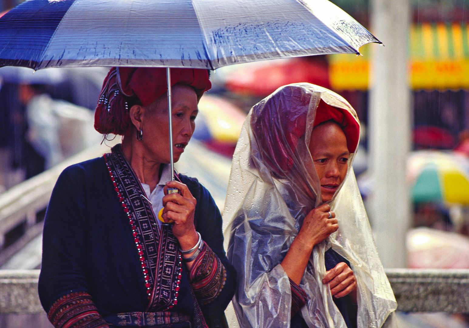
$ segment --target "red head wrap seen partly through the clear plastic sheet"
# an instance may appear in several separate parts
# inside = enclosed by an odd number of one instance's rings
[[[265,163],[279,176],[288,174],[294,163],[302,161],[299,140],[305,137],[311,93],[303,87],[288,85],[252,108],[251,127]],[[337,122],[347,138],[350,153],[358,145],[360,127],[346,109],[319,101],[314,126],[328,121]]]

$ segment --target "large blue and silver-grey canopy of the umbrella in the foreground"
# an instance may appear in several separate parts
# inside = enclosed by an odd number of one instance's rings
[[[30,0],[0,18],[0,66],[224,65],[379,42],[327,0]]]

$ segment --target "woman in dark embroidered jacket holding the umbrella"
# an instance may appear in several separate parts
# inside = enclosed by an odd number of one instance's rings
[[[203,69],[172,69],[171,80],[177,161],[211,84]],[[112,68],[95,128],[122,144],[54,187],[39,277],[54,327],[223,326],[234,269],[210,193],[185,175],[171,181],[166,90],[166,69]]]

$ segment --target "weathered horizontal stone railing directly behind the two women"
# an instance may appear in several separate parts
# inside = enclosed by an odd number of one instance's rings
[[[469,269],[386,270],[406,312],[469,313]],[[38,297],[39,270],[0,270],[0,313],[42,313]]]

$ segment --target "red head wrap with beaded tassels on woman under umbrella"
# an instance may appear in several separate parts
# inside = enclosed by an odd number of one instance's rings
[[[193,87],[198,98],[212,87],[206,69],[171,69],[171,85],[178,83]],[[124,135],[131,126],[129,102],[148,106],[166,91],[165,68],[113,67],[99,95],[94,128]]]

